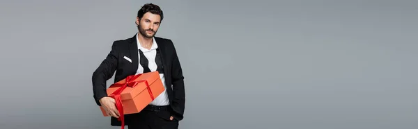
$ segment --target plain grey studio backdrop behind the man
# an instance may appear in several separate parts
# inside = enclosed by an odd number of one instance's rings
[[[91,75],[148,2],[183,65],[180,128],[418,128],[418,2],[400,0],[1,1],[0,128],[120,128]]]

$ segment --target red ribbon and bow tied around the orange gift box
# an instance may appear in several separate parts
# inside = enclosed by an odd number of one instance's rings
[[[155,99],[154,95],[153,95],[153,92],[150,89],[150,85],[148,85],[147,80],[134,81],[135,79],[139,78],[139,76],[141,76],[141,75],[142,74],[127,76],[125,78],[125,83],[114,83],[110,86],[110,87],[119,87],[118,89],[116,89],[115,92],[113,92],[109,96],[114,98],[115,101],[116,101],[116,108],[118,109],[118,112],[119,112],[118,121],[122,122],[122,126],[121,126],[122,129],[125,128],[125,117],[124,117],[124,114],[123,114],[123,104],[122,104],[122,98],[121,98],[121,93],[123,92],[123,89],[125,89],[126,87],[135,87],[135,86],[137,86],[138,83],[145,83],[146,88],[148,89],[148,93],[150,94],[151,99],[153,101]]]

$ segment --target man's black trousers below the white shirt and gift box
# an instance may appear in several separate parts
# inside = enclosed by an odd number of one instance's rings
[[[178,120],[170,120],[169,106],[148,105],[130,119],[128,129],[178,129]]]

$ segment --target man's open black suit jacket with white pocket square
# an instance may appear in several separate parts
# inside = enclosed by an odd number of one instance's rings
[[[155,42],[157,42],[157,49],[160,51],[164,67],[167,94],[173,111],[171,115],[174,119],[180,121],[183,119],[185,110],[185,85],[180,61],[171,40],[155,37]],[[113,76],[115,71],[114,82],[136,74],[139,65],[137,45],[136,35],[126,40],[116,40],[111,46],[110,53],[93,72],[93,98],[97,105],[100,105],[100,98],[108,95],[106,92],[106,81]],[[123,56],[130,58],[132,62],[125,60]],[[125,115],[125,125],[130,124],[130,120],[134,119],[133,116],[134,114]],[[121,122],[115,117],[111,117],[111,126],[121,126]]]

